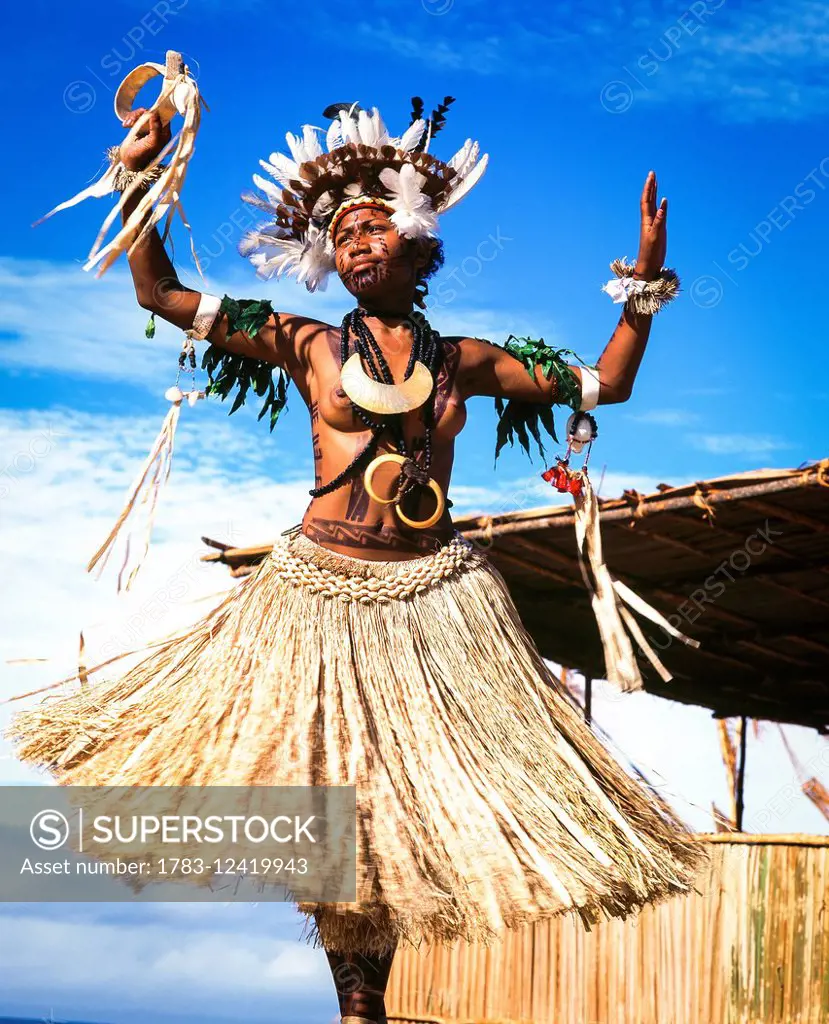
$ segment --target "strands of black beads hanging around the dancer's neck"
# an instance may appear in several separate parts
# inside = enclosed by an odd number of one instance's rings
[[[416,360],[420,360],[428,368],[433,380],[437,381],[438,371],[443,361],[443,344],[440,335],[434,331],[422,313],[412,314],[408,321],[411,328],[411,352],[408,357],[408,365],[404,375],[404,380],[411,376]],[[368,368],[368,373],[376,381],[384,384],[394,384],[389,365],[386,361],[383,351],[372,334],[368,325],[365,323],[365,310],[357,306],[343,317],[340,331],[340,366],[345,366],[349,356],[349,344],[351,335],[355,338],[355,350],[360,353],[360,358]],[[362,451],[358,452],[348,466],[338,473],[334,479],[319,487],[314,487],[309,492],[312,498],[319,498],[329,495],[333,490],[342,487],[355,470],[362,470],[369,462],[370,457],[377,449],[380,437],[385,430],[390,430],[394,443],[400,455],[406,461],[400,468],[400,495],[408,490],[414,483],[426,484],[429,481],[429,467],[432,464],[432,428],[435,425],[435,397],[437,388],[432,388],[432,393],[423,406],[424,424],[426,434],[424,437],[424,465],[419,466],[414,455],[409,452],[403,432],[403,414],[397,413],[386,417],[384,420],[376,420],[364,409],[352,400],[351,408],[372,431],[370,440]]]

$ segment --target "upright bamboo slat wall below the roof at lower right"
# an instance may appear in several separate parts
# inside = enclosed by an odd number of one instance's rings
[[[390,1024],[829,1022],[829,837],[706,842],[699,893],[630,921],[400,950]]]

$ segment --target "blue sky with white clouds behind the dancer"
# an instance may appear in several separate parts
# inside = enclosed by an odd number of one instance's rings
[[[336,282],[309,295],[255,279],[235,252],[252,222],[239,193],[260,158],[285,151],[286,131],[322,123],[331,102],[377,105],[399,133],[412,95],[431,110],[450,94],[456,102],[433,152],[448,157],[471,136],[490,164],[441,225],[446,263],[429,315],[443,334],[541,335],[597,357],[618,315],[600,286],[612,259],[636,256],[651,168],[668,198],[667,262],[684,292],[655,319],[631,400],[599,411],[592,465],[604,471],[603,494],[826,456],[823,3],[244,0],[231,9],[213,0],[34,0],[11,6],[6,26],[14,42],[4,137],[26,141],[5,161],[0,246],[0,546],[17,598],[4,610],[2,650],[4,659],[50,660],[7,671],[3,694],[59,678],[80,628],[101,649],[143,640],[158,622],[150,599],[158,604],[174,577],[186,577],[187,602],[225,586],[198,562],[202,534],[264,541],[298,521],[308,501],[311,446],[298,395],[272,435],[248,411],[228,420],[219,406],[185,409],[142,589],[116,609],[112,580],[83,573],[166,412],[179,336],[161,326],[144,339],[146,314],[123,260],[100,280],[83,271],[110,200],[30,225],[102,170],[104,150],[124,134],[115,87],[135,65],[163,62],[167,48],[185,53],[210,106],[183,196],[207,286],[180,221],[174,227],[190,287],[339,323],[350,297]],[[479,260],[493,238],[496,258]],[[450,490],[455,511],[553,500],[537,459],[508,451],[493,470],[494,428],[491,400],[473,401]],[[689,814],[724,802],[707,713],[603,699],[599,720],[661,773]],[[693,737],[681,751],[671,749],[677,729]],[[829,768],[814,736],[792,730],[792,741],[803,761]],[[785,805],[774,812],[781,830],[825,831],[804,801],[781,796],[791,772],[774,743],[772,734],[752,739],[749,812]],[[0,765],[0,781],[33,778],[7,751]],[[232,1018],[244,1000],[251,1021],[334,1018],[321,954],[298,943],[287,906],[7,904],[2,916],[0,936],[15,939],[0,938],[0,1014],[53,1007],[58,1017],[114,1024],[165,1014],[189,1024]],[[147,994],[140,982],[149,976],[158,984]]]

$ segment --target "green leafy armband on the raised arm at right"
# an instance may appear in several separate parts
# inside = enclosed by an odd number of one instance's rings
[[[584,361],[572,349],[552,348],[544,342],[543,338],[517,338],[513,334],[507,339],[504,347],[524,365],[532,380],[535,380],[536,367],[541,368],[541,372],[548,380],[552,377],[556,378],[556,398],[552,404],[569,406],[573,411],[578,410],[581,404],[581,385],[567,365],[565,356],[572,356],[582,365]],[[547,461],[544,447],[541,443],[540,427],[544,428],[557,444],[559,443],[552,406],[542,402],[518,401],[515,398],[505,402],[504,398],[496,397],[495,412],[498,416],[495,463],[497,463],[498,454],[504,445],[509,441],[512,447],[516,437],[530,460],[532,454],[529,442],[530,437],[532,437],[538,446],[541,458]]]

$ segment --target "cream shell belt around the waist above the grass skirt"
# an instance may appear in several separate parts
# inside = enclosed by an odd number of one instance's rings
[[[455,536],[434,555],[426,559],[414,558],[410,564],[403,563],[401,571],[391,579],[335,572],[298,557],[291,551],[290,544],[275,546],[270,557],[279,575],[296,587],[310,587],[319,594],[344,602],[382,603],[419,594],[451,575],[470,558],[473,550],[469,541]]]

